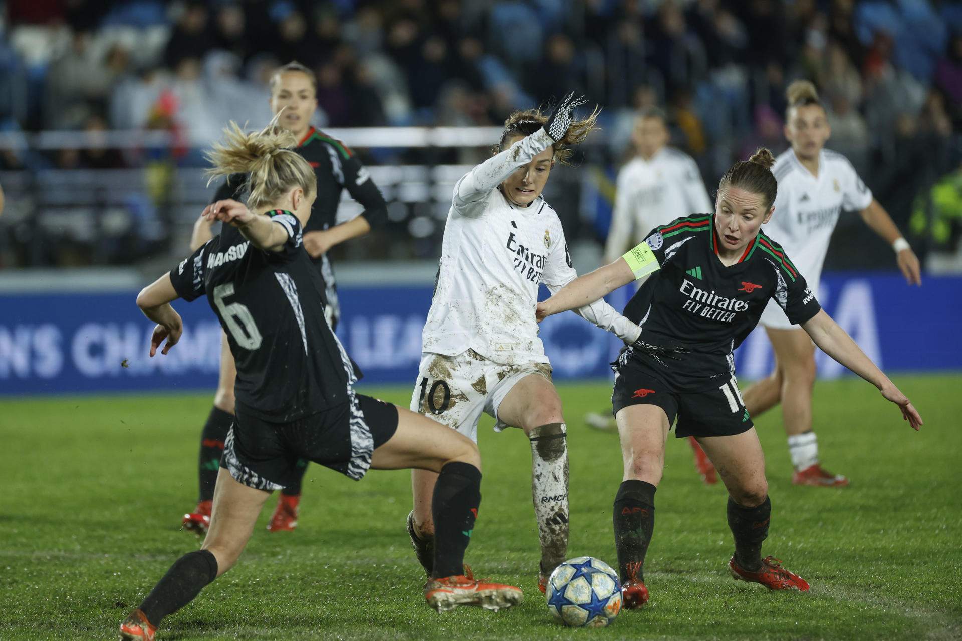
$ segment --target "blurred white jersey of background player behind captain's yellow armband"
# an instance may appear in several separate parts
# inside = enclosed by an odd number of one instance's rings
[[[714,210],[691,156],[663,147],[650,160],[636,157],[618,173],[605,262],[619,259],[658,225]]]

